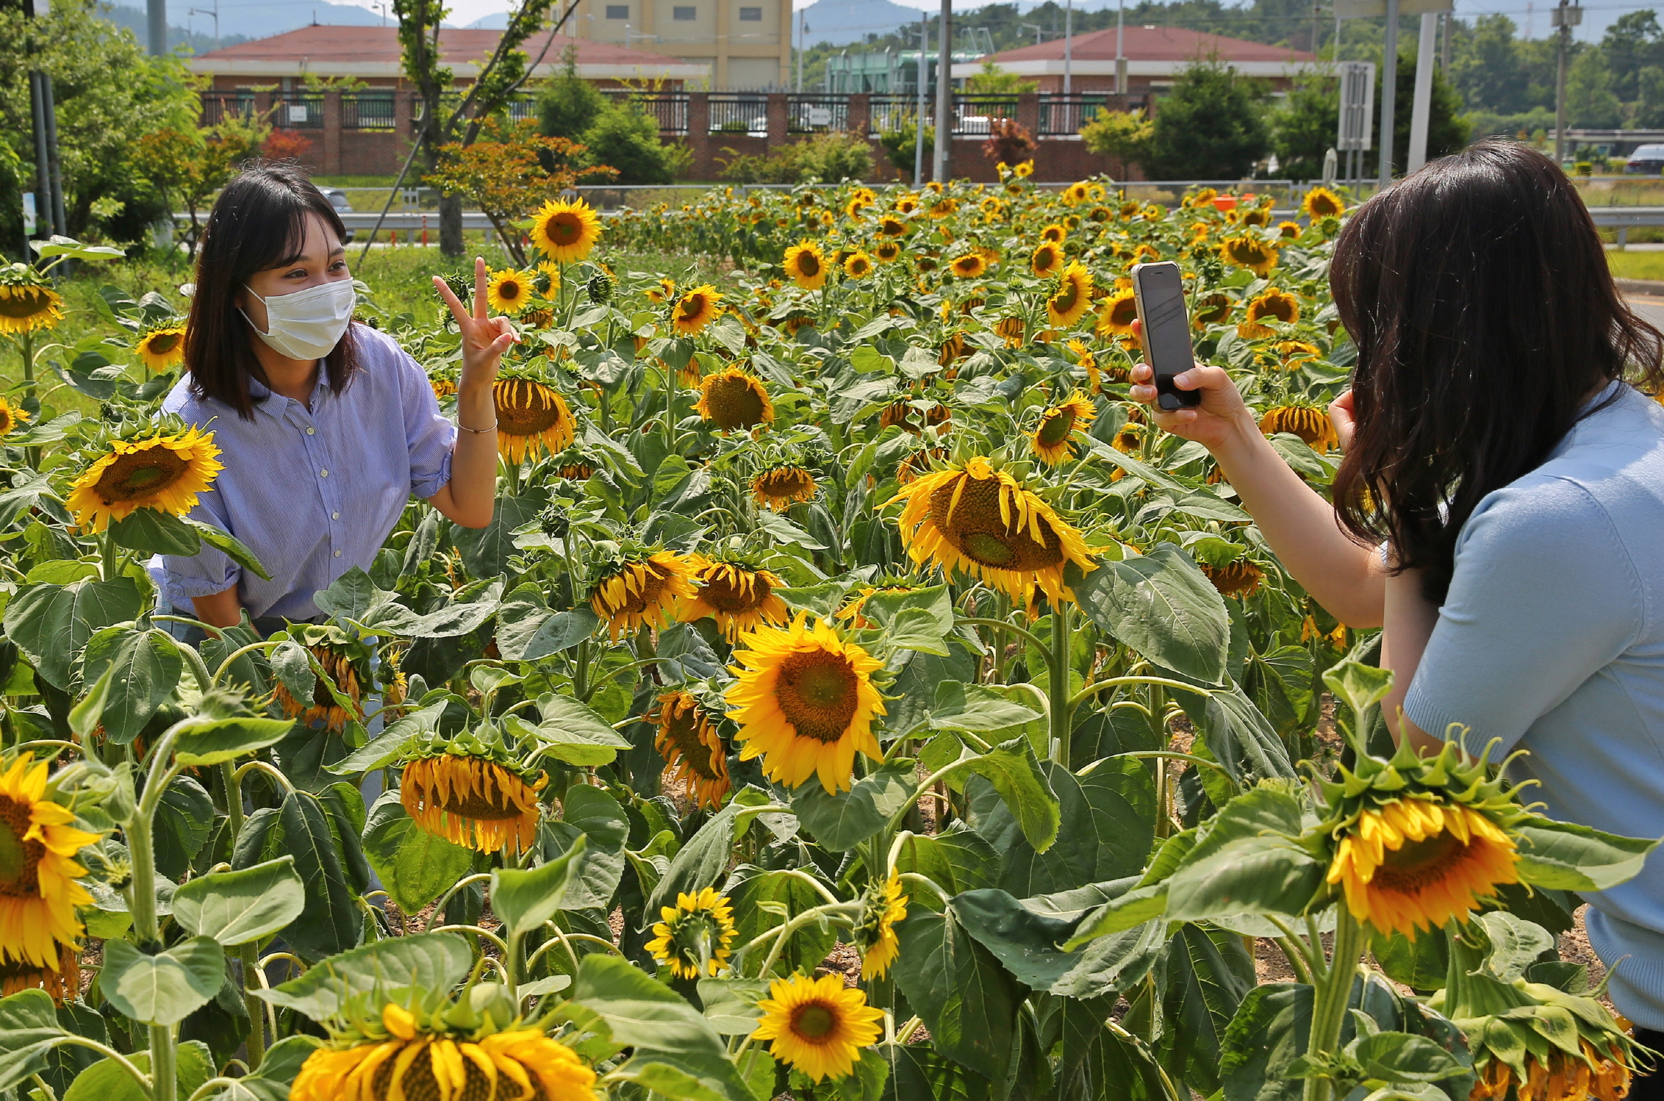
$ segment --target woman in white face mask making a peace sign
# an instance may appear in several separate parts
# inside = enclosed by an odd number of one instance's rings
[[[166,555],[160,580],[181,615],[231,627],[246,612],[261,634],[318,619],[313,595],[369,569],[411,497],[464,527],[491,522],[491,384],[516,338],[486,316],[484,261],[473,313],[434,279],[463,341],[453,424],[426,373],[353,321],[344,238],[329,201],[285,166],[246,168],[208,216],[188,373],[163,409],[213,431],[225,471],[195,516],[243,541],[271,580],[208,547]]]

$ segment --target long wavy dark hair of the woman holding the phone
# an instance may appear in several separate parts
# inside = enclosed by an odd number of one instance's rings
[[[1566,173],[1513,141],[1364,203],[1330,286],[1358,344],[1335,507],[1359,539],[1389,541],[1398,569],[1424,570],[1436,604],[1486,494],[1541,466],[1602,384],[1664,378],[1664,334],[1619,298]]]

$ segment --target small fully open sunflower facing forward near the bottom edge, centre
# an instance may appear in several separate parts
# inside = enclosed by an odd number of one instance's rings
[[[837,975],[777,978],[757,1003],[762,1020],[752,1039],[769,1039],[769,1051],[817,1084],[845,1078],[860,1049],[877,1043],[884,1010],[867,1005],[860,988],[845,988]]]

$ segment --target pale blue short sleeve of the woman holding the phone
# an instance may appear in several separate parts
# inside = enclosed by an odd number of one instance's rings
[[[1516,484],[1463,527],[1449,595],[1404,699],[1434,737],[1469,727],[1478,753],[1509,752],[1543,715],[1641,635],[1641,575],[1581,486]]]

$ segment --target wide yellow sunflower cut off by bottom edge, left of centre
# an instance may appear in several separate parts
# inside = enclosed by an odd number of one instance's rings
[[[424,1020],[454,1016],[461,1015],[433,1013]],[[394,1003],[383,1006],[376,1024],[359,1024],[361,1031],[336,1036],[308,1054],[290,1098],[594,1101],[596,1073],[571,1048],[544,1036],[541,1028],[453,1036],[423,1029],[416,1015]]]

